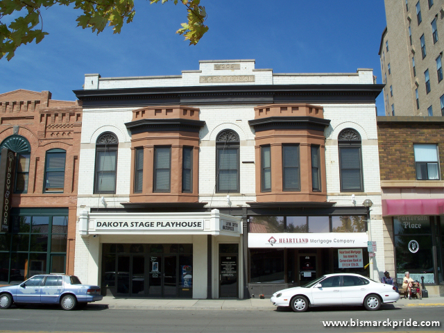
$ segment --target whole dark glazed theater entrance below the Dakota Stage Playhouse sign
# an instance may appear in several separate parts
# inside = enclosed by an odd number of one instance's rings
[[[192,250],[192,244],[103,244],[103,294],[191,298]]]

